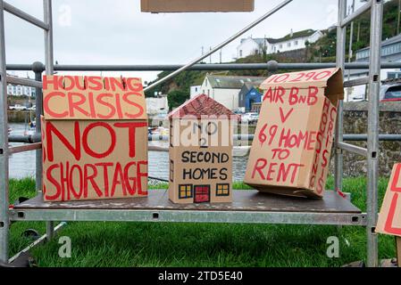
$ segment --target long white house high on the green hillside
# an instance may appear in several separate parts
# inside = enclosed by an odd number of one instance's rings
[[[281,38],[242,38],[237,47],[237,58],[244,58],[248,55],[263,53],[282,53],[294,51],[306,47],[306,43],[315,43],[323,37],[320,30],[305,29],[298,32],[291,32]]]

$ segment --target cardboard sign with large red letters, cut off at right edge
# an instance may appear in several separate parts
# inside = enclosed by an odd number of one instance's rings
[[[401,163],[397,163],[391,172],[376,232],[401,237]]]

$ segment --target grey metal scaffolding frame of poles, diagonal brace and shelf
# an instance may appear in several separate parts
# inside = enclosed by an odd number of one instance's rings
[[[53,58],[53,25],[52,25],[52,1],[44,0],[44,20],[38,20],[30,16],[28,13],[15,8],[11,4],[7,4],[4,0],[0,0],[0,262],[8,263],[9,252],[9,226],[11,221],[46,221],[46,238],[51,239],[54,235],[54,229],[57,230],[61,226],[54,228],[52,221],[163,221],[163,222],[205,222],[205,223],[259,223],[259,224],[345,224],[360,225],[366,227],[367,234],[367,265],[378,265],[378,240],[374,233],[376,218],[378,212],[378,159],[379,159],[379,89],[380,89],[380,52],[381,52],[381,27],[382,27],[382,0],[370,0],[363,4],[361,8],[353,14],[347,15],[347,0],[338,0],[338,38],[337,38],[337,62],[336,63],[277,63],[270,61],[268,63],[258,64],[196,64],[211,53],[219,50],[224,45],[229,44],[234,39],[243,35],[250,28],[255,27],[258,23],[270,17],[274,12],[289,4],[292,0],[283,1],[281,4],[265,13],[261,18],[240,30],[237,34],[228,40],[217,45],[210,52],[187,65],[56,65],[54,66]],[[369,63],[345,63],[346,60],[346,30],[347,25],[363,12],[371,10],[371,56]],[[35,62],[32,65],[22,64],[6,65],[5,62],[5,43],[4,43],[4,11],[26,20],[29,23],[44,29],[45,32],[45,65]],[[344,142],[347,135],[343,134],[343,102],[339,102],[338,106],[338,122],[335,135],[335,187],[336,190],[342,191],[343,178],[343,151],[351,151],[366,157],[368,161],[368,187],[367,187],[367,212],[362,213],[358,208],[347,199],[338,199],[335,191],[328,191],[325,201],[330,203],[322,204],[313,201],[309,204],[300,203],[299,210],[287,208],[285,201],[280,198],[272,198],[270,202],[266,201],[263,209],[252,208],[252,205],[246,207],[235,208],[220,207],[200,208],[194,211],[185,207],[155,207],[155,204],[149,202],[146,205],[135,204],[135,202],[127,203],[122,208],[113,208],[112,204],[99,201],[80,201],[67,203],[44,203],[41,198],[42,188],[42,151],[40,142],[40,115],[42,114],[42,92],[41,77],[43,71],[47,75],[54,73],[54,70],[175,70],[170,76],[155,82],[153,85],[146,87],[146,90],[155,87],[163,81],[177,75],[183,70],[228,70],[228,69],[319,69],[337,66],[341,69],[369,69],[369,76],[360,80],[351,80],[345,82],[345,86],[364,85],[367,84],[369,90],[369,118],[368,118],[368,134],[355,136],[355,140],[366,140],[368,147],[363,149],[353,144]],[[399,63],[383,63],[383,68],[399,68]],[[35,72],[35,80],[21,79],[15,77],[7,77],[6,70],[33,70]],[[37,88],[37,134],[26,138],[8,138],[7,123],[7,92],[6,85],[29,85]],[[250,136],[249,138],[252,138]],[[351,138],[351,137],[349,137]],[[399,137],[381,136],[381,139],[396,140]],[[163,138],[161,138],[163,139]],[[8,142],[21,140],[29,142],[21,146],[10,147]],[[26,140],[26,141],[24,141]],[[37,151],[37,172],[36,183],[38,196],[31,199],[21,206],[13,209],[9,208],[8,197],[8,161],[9,155],[22,151]],[[158,195],[155,191],[150,191],[150,195]],[[239,197],[241,193],[234,193]],[[239,196],[238,196],[239,195]],[[151,200],[151,199],[149,199]],[[157,202],[157,201],[156,201]],[[153,202],[155,203],[155,201]],[[281,203],[281,204],[280,204]],[[270,207],[272,204],[274,207]],[[330,205],[329,205],[330,204]],[[282,205],[281,210],[277,210],[277,205]],[[158,206],[158,205],[156,205]],[[113,208],[113,211],[107,209]],[[161,208],[162,207],[162,208]],[[36,243],[37,244],[37,243]]]

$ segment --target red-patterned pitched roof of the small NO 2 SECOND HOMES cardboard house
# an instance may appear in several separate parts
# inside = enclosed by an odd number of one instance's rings
[[[202,118],[202,116],[228,116],[230,119],[237,118],[230,109],[215,101],[205,94],[196,95],[194,98],[184,102],[180,107],[172,110],[168,118]]]

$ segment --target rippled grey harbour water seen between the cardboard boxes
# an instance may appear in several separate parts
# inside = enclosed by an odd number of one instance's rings
[[[24,124],[10,124],[13,129],[11,134],[24,134],[27,128]],[[153,145],[157,142],[152,142]],[[12,142],[12,145],[19,143]],[[156,178],[168,179],[169,177],[169,153],[165,151],[149,151],[148,175]],[[242,181],[245,175],[247,157],[233,158],[233,179]],[[10,177],[23,178],[35,177],[36,156],[35,151],[15,153],[10,158]]]

